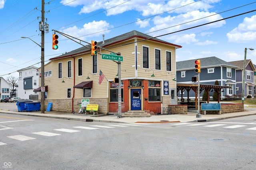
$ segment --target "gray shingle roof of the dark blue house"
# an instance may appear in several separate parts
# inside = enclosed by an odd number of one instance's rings
[[[176,70],[191,70],[195,68],[195,60],[186,60],[186,61],[178,61],[176,62]],[[219,59],[217,57],[206,57],[200,59],[201,68],[210,68],[214,66],[230,66],[233,68],[238,68],[238,66],[235,66],[234,64],[228,63],[222,59]]]

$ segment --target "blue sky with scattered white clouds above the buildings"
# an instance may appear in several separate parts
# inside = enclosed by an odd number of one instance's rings
[[[19,69],[41,66],[41,10],[42,0],[0,0],[0,77],[18,77]],[[182,46],[176,61],[212,56],[239,61],[245,48],[253,48],[246,59],[256,64],[252,10],[256,0],[44,0],[44,22],[49,24],[44,61],[82,47],[56,33],[58,49],[53,50],[52,29],[86,42],[136,30]]]

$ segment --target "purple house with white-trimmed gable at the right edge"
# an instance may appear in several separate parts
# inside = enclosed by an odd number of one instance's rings
[[[232,61],[229,63],[238,66],[238,68],[236,68],[236,94],[242,94],[244,60]],[[254,72],[256,72],[254,64],[250,59],[246,60],[244,98],[246,98],[248,95],[254,98]]]

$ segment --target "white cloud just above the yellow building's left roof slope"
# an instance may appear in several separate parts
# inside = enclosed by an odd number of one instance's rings
[[[89,23],[85,23],[82,28],[78,28],[77,26],[69,27],[69,28],[63,29],[63,32],[73,37],[79,37],[79,39],[85,39],[85,37],[81,37],[81,36],[84,36],[84,35],[87,35],[86,37],[99,36],[104,33],[109,33],[110,30],[108,31],[104,31],[104,30],[110,29],[112,27],[113,26],[107,23],[106,21],[100,20],[100,21],[92,21]]]

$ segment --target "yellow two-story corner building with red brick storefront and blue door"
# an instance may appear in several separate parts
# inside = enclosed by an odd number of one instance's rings
[[[120,64],[122,113],[141,110],[152,114],[157,107],[176,104],[173,79],[176,49],[181,48],[180,45],[134,30],[107,40],[103,38],[97,46],[97,55],[92,56],[91,45],[86,45],[51,58],[45,64],[44,71],[51,72],[44,78],[45,106],[52,102],[52,110],[78,112],[82,99],[89,99],[90,104],[99,105],[99,113],[117,113],[118,83],[114,78],[118,64],[116,59],[103,59],[100,55],[110,51],[123,56]],[[104,74],[101,84],[98,83],[100,71]]]

